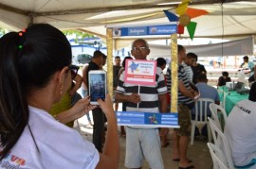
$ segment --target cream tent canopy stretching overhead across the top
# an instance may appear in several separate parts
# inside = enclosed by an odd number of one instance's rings
[[[109,25],[169,23],[163,10],[175,13],[174,0],[1,0],[0,26],[20,30],[32,23],[48,23],[60,29],[79,29],[105,38]],[[179,1],[181,2],[181,1]],[[193,18],[195,38],[246,37],[256,33],[256,2],[194,0],[190,8],[210,13]],[[187,30],[180,38],[189,37]],[[154,37],[159,38],[159,37]],[[170,38],[170,36],[160,37]]]

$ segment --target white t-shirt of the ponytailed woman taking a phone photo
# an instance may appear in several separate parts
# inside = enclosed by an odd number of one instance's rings
[[[0,168],[11,166],[20,169],[92,169],[96,167],[100,155],[94,144],[83,141],[79,132],[59,123],[45,110],[33,107],[29,107],[29,110],[28,124],[31,132],[28,126],[25,127],[20,139],[10,150],[9,156],[0,161]]]

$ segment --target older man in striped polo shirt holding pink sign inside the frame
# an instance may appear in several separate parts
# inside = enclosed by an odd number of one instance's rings
[[[132,44],[131,53],[135,59],[126,62],[126,70],[119,77],[116,99],[127,102],[127,111],[166,112],[167,87],[161,69],[146,60],[150,54],[148,42],[137,39]],[[144,159],[151,168],[164,168],[158,127],[127,126],[124,165],[141,168]]]

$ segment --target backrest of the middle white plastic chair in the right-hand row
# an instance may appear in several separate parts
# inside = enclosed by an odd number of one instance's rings
[[[213,121],[210,117],[208,118],[210,123],[210,129],[213,136],[214,144],[218,146],[225,157],[224,161],[227,161],[227,165],[229,169],[234,168],[234,164],[231,158],[229,142],[227,141],[223,131],[217,127],[215,121]]]

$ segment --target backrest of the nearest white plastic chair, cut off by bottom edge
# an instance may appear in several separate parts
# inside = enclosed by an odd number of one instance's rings
[[[224,155],[221,149],[215,144],[207,144],[210,150],[210,157],[213,162],[213,169],[229,169],[227,161],[225,161]]]

